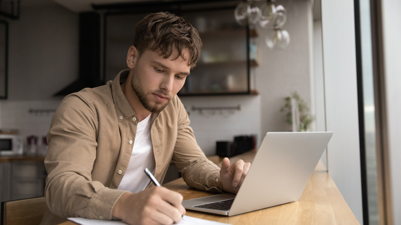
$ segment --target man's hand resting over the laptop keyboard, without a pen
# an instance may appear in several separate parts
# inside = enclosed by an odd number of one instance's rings
[[[227,157],[224,158],[220,170],[223,190],[236,194],[248,173],[249,167],[250,163],[241,159],[230,165],[230,160]]]

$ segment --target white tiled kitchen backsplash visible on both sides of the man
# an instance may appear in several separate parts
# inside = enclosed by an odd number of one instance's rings
[[[206,155],[215,154],[215,142],[238,135],[256,135],[260,141],[260,96],[181,97],[196,140]],[[18,129],[20,135],[46,136],[60,100],[0,101],[0,129]],[[221,109],[219,109],[221,108]]]

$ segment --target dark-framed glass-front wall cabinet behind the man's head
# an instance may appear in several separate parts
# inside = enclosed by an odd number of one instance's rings
[[[172,5],[174,3],[171,3]],[[130,6],[135,6],[132,4]],[[198,63],[191,70],[179,96],[250,94],[250,67],[257,65],[249,59],[249,27],[238,25],[234,19],[235,5],[210,6],[181,4],[166,10],[185,16],[198,30],[203,49]],[[174,8],[174,10],[171,10]],[[113,10],[104,15],[104,81],[113,80],[127,68],[126,52],[134,40],[135,24],[151,12]]]

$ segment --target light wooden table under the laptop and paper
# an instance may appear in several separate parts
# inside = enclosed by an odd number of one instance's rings
[[[252,161],[253,152],[241,157],[232,157],[230,160],[242,158]],[[233,161],[232,161],[233,162]],[[164,184],[166,188],[183,195],[184,199],[198,198],[212,195],[190,188],[182,178]],[[296,202],[278,205],[263,210],[236,215],[232,217],[219,216],[208,213],[187,211],[188,216],[225,222],[231,224],[359,224],[347,202],[345,202],[336,184],[326,172],[322,162],[319,162],[314,173],[306,184],[301,198]],[[74,225],[67,221],[62,225]]]

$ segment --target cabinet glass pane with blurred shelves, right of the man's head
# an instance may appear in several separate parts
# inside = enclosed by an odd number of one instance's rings
[[[203,48],[179,94],[247,93],[247,28],[235,22],[233,10],[194,11],[183,15],[198,30]]]

